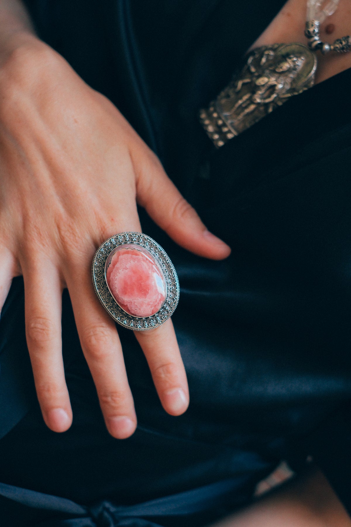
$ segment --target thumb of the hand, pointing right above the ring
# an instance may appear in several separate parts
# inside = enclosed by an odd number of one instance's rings
[[[206,229],[196,210],[168,178],[155,154],[151,156],[151,163],[145,162],[144,157],[142,167],[133,163],[138,203],[184,249],[213,260],[227,258],[230,247]]]

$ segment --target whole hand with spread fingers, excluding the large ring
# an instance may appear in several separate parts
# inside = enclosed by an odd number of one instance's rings
[[[96,248],[117,232],[141,231],[137,201],[197,255],[222,259],[230,249],[206,231],[111,102],[30,33],[14,38],[0,68],[0,309],[22,274],[38,400],[47,426],[63,432],[72,422],[61,351],[68,288],[106,426],[125,438],[136,416],[115,324],[93,291]],[[182,414],[188,388],[172,321],[135,335],[163,407]]]

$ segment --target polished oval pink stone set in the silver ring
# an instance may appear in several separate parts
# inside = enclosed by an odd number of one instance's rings
[[[140,249],[117,248],[106,270],[107,285],[129,315],[149,317],[166,298],[165,279],[151,255]]]

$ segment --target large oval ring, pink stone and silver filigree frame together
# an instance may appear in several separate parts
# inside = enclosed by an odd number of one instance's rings
[[[92,271],[98,299],[125,328],[157,328],[177,307],[175,268],[164,249],[141,232],[121,232],[104,241]]]

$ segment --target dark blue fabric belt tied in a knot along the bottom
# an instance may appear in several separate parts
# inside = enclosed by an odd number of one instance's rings
[[[163,519],[170,516],[177,516],[182,524],[182,517],[190,514],[214,509],[218,512],[222,508],[233,510],[247,495],[244,491],[247,485],[251,488],[250,475],[245,474],[134,505],[102,501],[85,506],[61,496],[0,483],[1,520],[13,520],[15,514],[21,520],[16,525],[21,526],[28,525],[27,517],[36,527],[164,527]],[[12,527],[13,523],[1,525]]]

